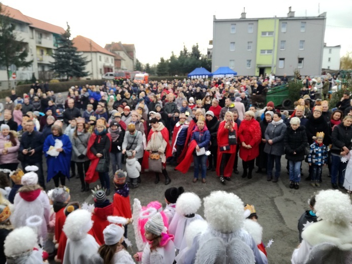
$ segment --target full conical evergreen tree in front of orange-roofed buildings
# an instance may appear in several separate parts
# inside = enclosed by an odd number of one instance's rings
[[[66,77],[69,80],[71,77],[85,77],[88,72],[85,72],[85,65],[89,62],[86,57],[82,57],[73,46],[69,23],[67,29],[58,40],[58,48],[54,51],[52,57],[55,59],[52,62],[51,69],[59,77]]]

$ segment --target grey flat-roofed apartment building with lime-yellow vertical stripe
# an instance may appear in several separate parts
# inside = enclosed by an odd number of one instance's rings
[[[228,66],[238,75],[319,75],[326,13],[317,17],[216,19],[213,17],[212,72]]]

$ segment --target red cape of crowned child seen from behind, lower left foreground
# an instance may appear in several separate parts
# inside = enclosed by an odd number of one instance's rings
[[[92,236],[99,245],[103,245],[105,243],[103,231],[105,227],[110,224],[110,222],[108,221],[108,216],[111,216],[113,214],[114,205],[112,203],[103,208],[94,208],[94,213],[91,216],[91,219],[93,220],[93,226],[91,228],[91,231],[93,233]]]

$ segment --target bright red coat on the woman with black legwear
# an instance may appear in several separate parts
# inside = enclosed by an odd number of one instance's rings
[[[240,158],[244,161],[252,160],[259,155],[259,144],[262,140],[262,130],[259,122],[254,118],[249,121],[243,120],[238,129],[238,139],[240,142]],[[252,148],[242,147],[242,142]]]

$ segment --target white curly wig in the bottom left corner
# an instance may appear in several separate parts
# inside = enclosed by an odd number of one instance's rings
[[[37,244],[37,234],[28,226],[14,229],[5,239],[4,253],[7,257],[21,256]]]

